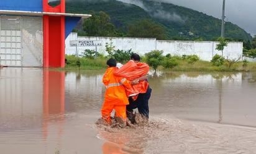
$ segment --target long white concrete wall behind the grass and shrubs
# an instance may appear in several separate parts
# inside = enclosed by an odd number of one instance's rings
[[[98,40],[102,42],[102,46],[70,46],[70,41],[73,40]],[[121,49],[127,51],[132,49],[132,52],[144,55],[152,50],[163,50],[163,55],[168,53],[171,56],[182,56],[196,54],[201,60],[211,61],[215,54],[220,54],[221,51],[217,51],[216,41],[163,41],[156,40],[155,38],[116,38],[116,37],[89,37],[78,36],[77,33],[70,33],[65,40],[65,54],[81,54],[85,49],[94,49],[101,54],[107,55],[106,43],[115,46],[115,49]],[[242,42],[229,42],[224,48],[223,56],[229,59],[242,58]],[[241,59],[242,60],[242,59]]]

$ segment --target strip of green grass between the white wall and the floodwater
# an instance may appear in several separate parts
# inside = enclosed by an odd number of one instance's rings
[[[103,71],[106,70],[107,65],[106,61],[108,58],[106,57],[98,57],[96,59],[88,59],[88,58],[76,58],[75,55],[68,56],[66,55],[66,64],[65,68],[57,68],[57,70],[98,70]],[[145,57],[142,56],[142,62],[145,62]],[[256,62],[248,62],[246,65],[241,62],[235,62],[231,67],[228,67],[227,64],[223,64],[222,66],[213,66],[213,64],[209,61],[196,61],[193,63],[188,62],[186,59],[176,58],[178,65],[173,68],[163,68],[163,66],[158,66],[157,70],[165,70],[165,71],[194,71],[194,72],[254,72],[256,71]],[[151,67],[150,67],[151,68]]]

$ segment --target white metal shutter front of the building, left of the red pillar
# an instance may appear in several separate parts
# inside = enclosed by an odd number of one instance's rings
[[[42,17],[0,15],[0,64],[42,67]]]

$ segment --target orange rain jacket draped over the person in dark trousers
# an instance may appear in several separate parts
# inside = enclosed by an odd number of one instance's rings
[[[147,75],[149,72],[149,65],[145,62],[134,62],[133,60],[130,60],[124,66],[122,66],[120,69],[116,69],[114,71],[114,75],[118,77],[125,77],[127,80],[135,80],[143,75]],[[132,90],[134,93],[145,93],[147,92],[147,88],[149,87],[149,82],[147,81],[140,81],[136,85],[132,85]],[[129,96],[130,91],[127,90],[127,96]],[[137,99],[136,96],[132,97],[134,100]]]

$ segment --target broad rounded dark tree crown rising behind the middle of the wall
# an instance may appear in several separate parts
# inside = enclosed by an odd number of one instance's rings
[[[152,20],[139,20],[136,24],[129,25],[127,35],[130,37],[157,38],[157,40],[167,39],[167,32]]]

